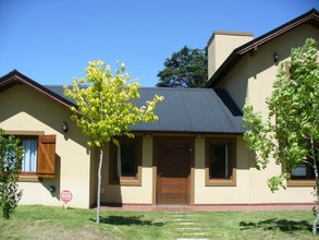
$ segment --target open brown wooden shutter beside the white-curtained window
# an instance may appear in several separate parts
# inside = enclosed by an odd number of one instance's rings
[[[39,178],[54,178],[56,135],[39,135],[37,175]]]

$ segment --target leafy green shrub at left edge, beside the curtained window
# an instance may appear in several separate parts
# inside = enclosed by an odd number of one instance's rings
[[[5,219],[10,218],[22,197],[16,183],[22,159],[23,147],[19,139],[4,137],[0,129],[0,208]]]

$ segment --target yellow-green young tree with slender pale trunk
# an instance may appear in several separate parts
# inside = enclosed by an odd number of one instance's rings
[[[119,144],[116,136],[134,137],[130,127],[158,119],[154,113],[156,104],[163,97],[155,96],[146,106],[136,107],[134,99],[139,98],[137,82],[124,73],[124,64],[112,76],[110,65],[102,61],[89,62],[85,79],[74,79],[72,89],[64,86],[64,95],[75,99],[77,107],[71,107],[72,120],[85,135],[88,145],[100,151],[98,165],[97,223],[100,218],[100,187],[105,144]]]

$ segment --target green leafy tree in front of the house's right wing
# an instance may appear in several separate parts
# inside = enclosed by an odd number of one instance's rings
[[[318,144],[319,143],[319,65],[317,43],[307,39],[305,45],[293,48],[290,72],[280,67],[273,83],[273,92],[267,99],[269,113],[262,120],[249,100],[244,106],[244,122],[249,130],[244,139],[256,152],[256,166],[265,169],[270,159],[283,164],[284,170],[268,180],[271,191],[285,188],[292,169],[302,164],[311,166],[316,180],[317,204],[319,202]],[[317,231],[317,207],[312,232]]]

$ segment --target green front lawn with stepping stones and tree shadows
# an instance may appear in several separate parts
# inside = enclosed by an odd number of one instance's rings
[[[0,239],[319,239],[311,212],[101,212],[19,206]]]

